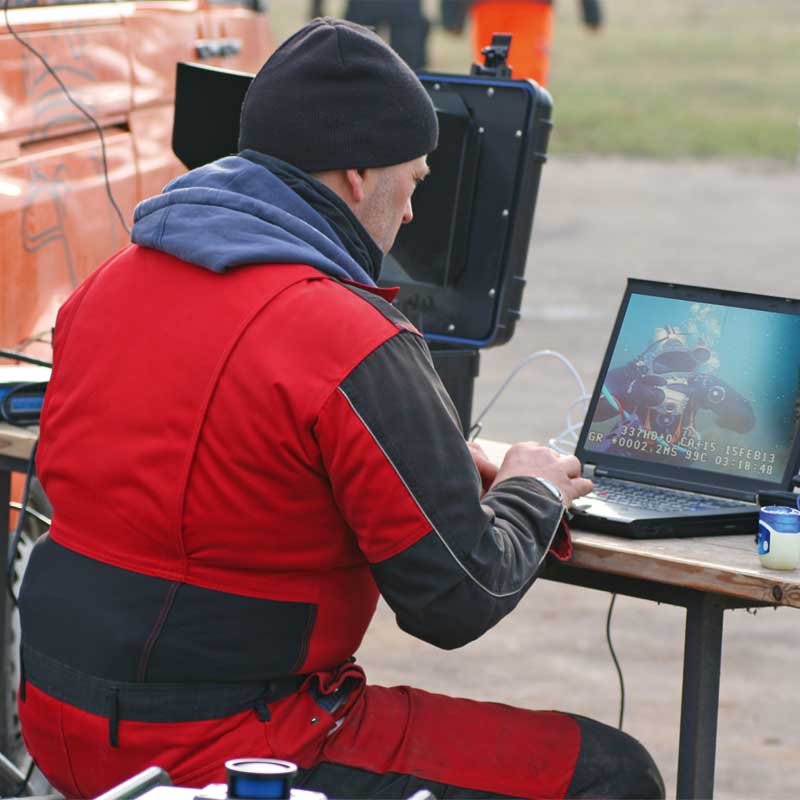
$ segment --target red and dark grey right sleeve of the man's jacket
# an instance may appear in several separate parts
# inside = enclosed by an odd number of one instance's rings
[[[399,626],[442,648],[478,638],[533,583],[563,508],[536,479],[481,482],[424,340],[400,331],[320,411],[338,507]]]

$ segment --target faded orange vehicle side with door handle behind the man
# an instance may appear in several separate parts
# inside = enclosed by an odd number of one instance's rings
[[[0,0],[0,347],[49,359],[58,307],[128,241],[97,130],[33,50],[97,120],[130,224],[134,205],[183,171],[171,148],[176,62],[257,70],[274,48],[259,6]]]

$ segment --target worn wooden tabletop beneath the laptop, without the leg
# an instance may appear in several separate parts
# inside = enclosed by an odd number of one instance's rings
[[[508,445],[479,440],[502,461]],[[572,528],[570,564],[658,583],[800,608],[800,570],[764,569],[754,535],[626,539]]]

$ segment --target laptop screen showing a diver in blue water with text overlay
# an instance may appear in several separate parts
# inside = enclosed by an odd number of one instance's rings
[[[796,305],[652,286],[629,284],[581,436],[586,456],[698,482],[716,473],[740,488],[783,483],[800,423]]]

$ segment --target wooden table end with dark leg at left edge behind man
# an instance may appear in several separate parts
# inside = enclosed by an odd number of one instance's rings
[[[30,426],[16,427],[0,423],[0,514],[3,514],[4,524],[0,525],[0,553],[8,553],[9,540],[9,502],[11,500],[11,474],[25,472],[28,469],[33,445],[39,437],[39,428]],[[6,658],[8,651],[8,619],[9,619],[9,590],[8,570],[4,567],[0,572],[0,653]],[[0,674],[0,752],[7,753],[10,744],[11,732],[7,728],[9,691],[6,685],[7,675],[5,670]]]

